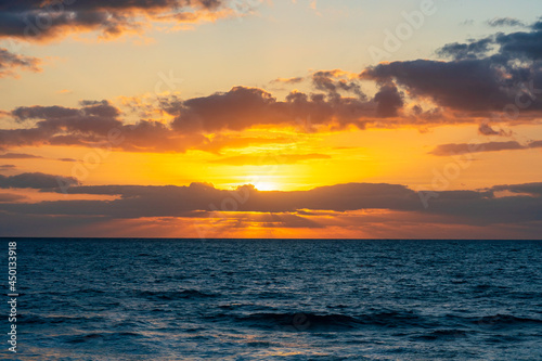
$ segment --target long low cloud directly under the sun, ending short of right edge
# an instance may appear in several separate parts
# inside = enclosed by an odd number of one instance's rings
[[[396,184],[351,183],[299,192],[260,192],[253,185],[224,191],[204,183],[192,183],[190,186],[103,185],[72,186],[68,193],[120,195],[120,198],[108,202],[42,202],[34,206],[13,205],[13,208],[3,209],[28,214],[104,215],[116,218],[183,217],[190,211],[212,210],[285,212],[297,209],[423,209],[415,192]]]

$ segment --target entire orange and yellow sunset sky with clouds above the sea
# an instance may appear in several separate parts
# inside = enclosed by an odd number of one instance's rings
[[[540,238],[538,0],[0,2],[0,236]]]

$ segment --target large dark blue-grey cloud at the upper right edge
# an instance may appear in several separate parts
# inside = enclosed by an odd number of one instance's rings
[[[413,99],[431,100],[472,117],[504,114],[516,106],[522,118],[533,119],[542,111],[542,23],[529,31],[446,44],[437,53],[452,60],[382,63],[360,77],[393,81]]]

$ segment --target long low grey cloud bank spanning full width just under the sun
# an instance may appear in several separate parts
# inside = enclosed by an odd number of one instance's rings
[[[495,196],[507,190],[517,196]],[[117,195],[114,201],[56,201],[33,204],[2,204],[0,211],[41,216],[85,216],[112,219],[149,217],[205,217],[214,211],[236,212],[346,212],[387,209],[426,217],[440,222],[472,225],[535,222],[542,217],[541,183],[500,185],[479,191],[435,193],[424,207],[421,194],[400,184],[348,183],[310,191],[260,192],[251,185],[233,191],[209,184],[190,186],[100,185],[72,186],[69,194]],[[59,191],[60,192],[60,191]],[[530,195],[525,195],[530,194]],[[514,209],[511,212],[511,209]],[[202,214],[203,212],[203,214]]]

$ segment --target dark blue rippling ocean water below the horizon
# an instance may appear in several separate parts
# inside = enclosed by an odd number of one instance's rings
[[[2,359],[542,360],[542,242],[16,241]]]

